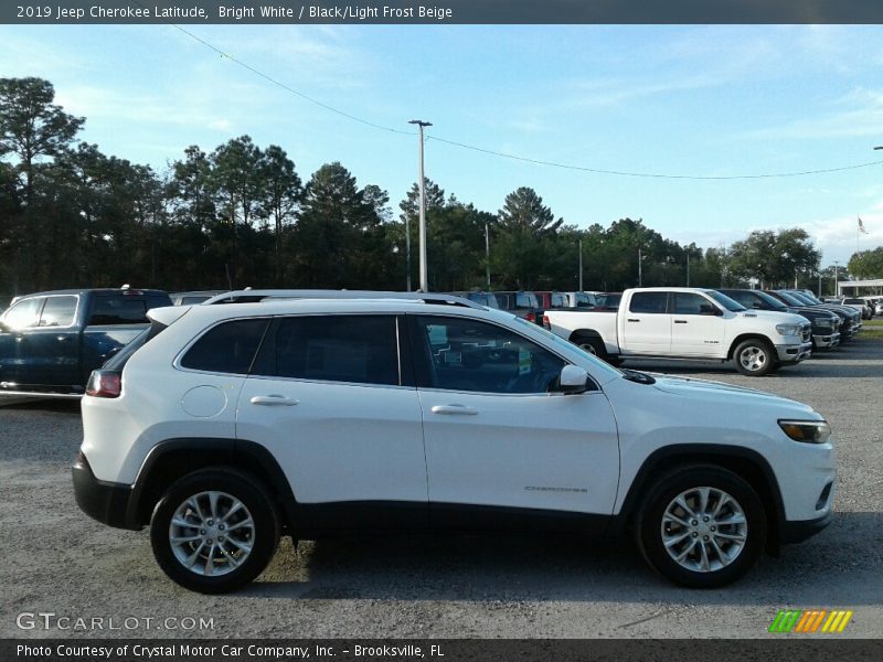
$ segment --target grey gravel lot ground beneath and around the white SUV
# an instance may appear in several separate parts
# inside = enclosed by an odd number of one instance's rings
[[[883,636],[883,341],[859,340],[759,380],[715,364],[629,365],[816,407],[839,444],[834,523],[713,591],[672,586],[627,541],[409,537],[297,549],[286,541],[257,583],[201,596],[166,578],[146,531],[109,528],[74,503],[68,467],[79,445],[78,404],[7,404],[0,637],[762,638],[786,607],[853,609],[843,636]],[[40,620],[22,630],[22,612],[70,617],[72,628],[50,617],[49,628]],[[79,629],[77,618],[104,618],[104,630]],[[213,627],[194,630],[187,619],[213,619]]]

